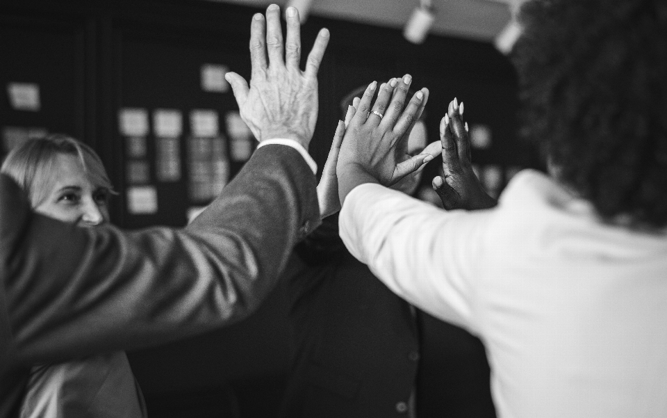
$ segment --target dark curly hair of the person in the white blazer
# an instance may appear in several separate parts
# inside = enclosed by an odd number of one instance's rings
[[[532,0],[512,59],[522,134],[602,218],[667,225],[667,1]]]

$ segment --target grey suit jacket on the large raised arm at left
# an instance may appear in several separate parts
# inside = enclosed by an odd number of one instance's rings
[[[25,368],[157,345],[238,321],[319,223],[315,176],[284,145],[258,149],[183,230],[79,228],[28,210],[0,177],[0,416]],[[1,371],[4,370],[4,371]]]

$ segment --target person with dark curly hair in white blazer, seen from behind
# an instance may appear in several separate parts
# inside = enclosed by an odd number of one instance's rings
[[[340,236],[481,339],[499,417],[667,417],[667,1],[532,0],[520,23],[522,134],[549,174],[523,170],[493,202],[454,99],[433,185],[446,209],[482,210],[438,211],[380,185],[394,160],[363,156],[393,131],[353,119]]]

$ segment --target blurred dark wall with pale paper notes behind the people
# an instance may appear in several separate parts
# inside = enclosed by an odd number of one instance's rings
[[[249,78],[249,22],[268,3],[3,1],[0,158],[31,136],[70,134],[99,152],[120,192],[112,202],[115,225],[186,225],[254,150],[224,72]],[[321,27],[331,42],[310,152],[321,169],[350,90],[410,73],[415,88],[431,92],[431,140],[450,100],[466,103],[473,161],[497,195],[517,170],[539,165],[517,140],[516,78],[493,43],[511,20],[509,6],[429,2],[433,26],[414,45],[403,29],[418,3],[313,2],[302,29],[304,60]],[[423,193],[439,164],[429,163]],[[151,416],[220,416],[224,409],[270,416],[289,364],[287,309],[277,290],[242,323],[130,353]]]

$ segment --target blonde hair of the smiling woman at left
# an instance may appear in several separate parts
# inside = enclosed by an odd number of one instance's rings
[[[36,207],[47,196],[47,184],[58,154],[78,156],[83,171],[92,183],[114,193],[97,153],[88,145],[66,135],[53,134],[22,143],[11,150],[0,172],[12,177],[26,193],[31,205]]]

